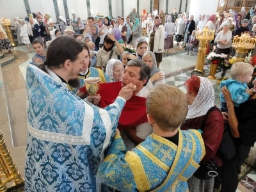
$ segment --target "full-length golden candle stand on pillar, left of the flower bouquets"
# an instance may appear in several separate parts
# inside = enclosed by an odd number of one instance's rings
[[[204,61],[207,51],[207,44],[214,39],[214,30],[205,27],[202,31],[196,31],[196,39],[199,41],[198,56],[196,60],[196,68],[192,72],[204,72]]]

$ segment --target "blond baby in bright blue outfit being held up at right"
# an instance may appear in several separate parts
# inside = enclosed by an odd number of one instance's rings
[[[221,82],[220,88],[227,86],[235,107],[238,107],[239,104],[248,100],[250,95],[253,95],[253,89],[249,90],[247,86],[247,84],[252,80],[252,74],[252,65],[249,63],[237,62],[232,65],[230,70],[230,76],[232,79]],[[223,97],[223,93],[220,93],[220,101],[221,111],[228,112],[227,103]]]

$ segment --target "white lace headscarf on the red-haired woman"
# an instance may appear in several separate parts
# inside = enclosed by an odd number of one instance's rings
[[[188,109],[186,120],[203,116],[214,106],[214,89],[211,81],[205,77],[200,78],[200,87],[196,98]]]

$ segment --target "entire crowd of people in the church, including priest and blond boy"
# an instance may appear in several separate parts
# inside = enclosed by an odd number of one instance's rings
[[[192,55],[195,30],[205,26],[216,30],[212,48],[229,54],[233,35],[254,33],[254,9],[249,13],[203,14],[195,22],[186,13],[178,19],[175,9],[167,18],[134,9],[126,19],[88,17],[86,24],[73,13],[70,26],[59,17],[60,29],[49,14],[15,17],[18,41],[35,51],[26,79],[26,191],[210,192],[221,184],[235,192],[256,141],[252,65],[232,66],[232,79],[221,83],[221,110],[207,78],[192,76],[184,94],[165,84],[159,65],[174,36]],[[0,28],[0,48],[10,50],[4,34]],[[136,52],[124,51],[124,43]],[[85,88],[90,77],[99,78],[96,95]],[[227,135],[234,148],[221,150]]]

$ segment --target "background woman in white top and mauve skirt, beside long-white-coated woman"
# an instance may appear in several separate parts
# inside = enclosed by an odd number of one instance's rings
[[[173,35],[175,33],[175,24],[172,22],[172,17],[167,17],[167,22],[164,24],[164,53],[168,54],[169,49],[173,48]]]

